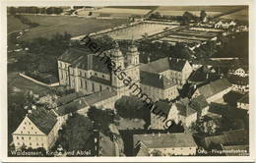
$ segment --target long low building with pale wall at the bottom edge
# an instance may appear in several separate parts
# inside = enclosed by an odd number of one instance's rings
[[[134,155],[154,156],[158,151],[161,156],[195,155],[197,144],[193,136],[186,133],[134,135]]]

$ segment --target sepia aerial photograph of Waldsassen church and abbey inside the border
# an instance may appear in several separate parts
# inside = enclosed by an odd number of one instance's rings
[[[249,7],[8,6],[8,157],[250,156]]]

